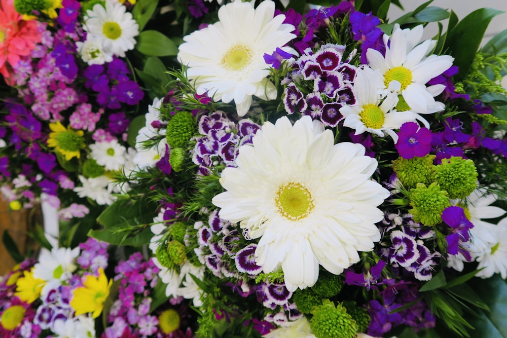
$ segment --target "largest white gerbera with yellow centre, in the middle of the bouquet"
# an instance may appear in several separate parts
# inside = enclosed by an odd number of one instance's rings
[[[283,270],[286,287],[312,286],[319,264],[334,274],[380,240],[377,208],[389,192],[370,179],[377,161],[360,144],[334,144],[331,130],[305,116],[266,123],[252,145],[239,148],[215,196],[220,217],[260,238],[256,262]]]

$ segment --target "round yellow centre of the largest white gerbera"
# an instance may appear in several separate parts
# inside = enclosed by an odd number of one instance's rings
[[[280,186],[275,201],[278,211],[291,220],[305,218],[314,207],[312,195],[300,183],[288,183]]]

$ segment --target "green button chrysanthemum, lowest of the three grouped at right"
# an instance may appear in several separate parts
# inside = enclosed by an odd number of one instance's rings
[[[410,205],[413,209],[409,212],[416,222],[425,226],[434,226],[442,222],[442,212],[450,206],[449,195],[433,182],[429,186],[417,183],[415,189],[410,190]]]

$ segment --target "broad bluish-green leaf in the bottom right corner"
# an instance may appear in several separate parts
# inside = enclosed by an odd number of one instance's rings
[[[490,312],[482,311],[481,319],[472,318],[476,330],[470,332],[472,338],[507,337],[507,284],[499,275],[488,279],[476,278],[474,290],[490,308]]]

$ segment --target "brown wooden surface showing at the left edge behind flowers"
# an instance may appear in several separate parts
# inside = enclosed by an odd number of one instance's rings
[[[9,204],[0,199],[0,238],[4,231],[8,230],[19,251],[25,254],[28,248],[33,248],[33,242],[26,235],[32,218],[33,210],[12,211],[9,210]],[[0,242],[0,276],[7,274],[15,264],[4,244]]]

